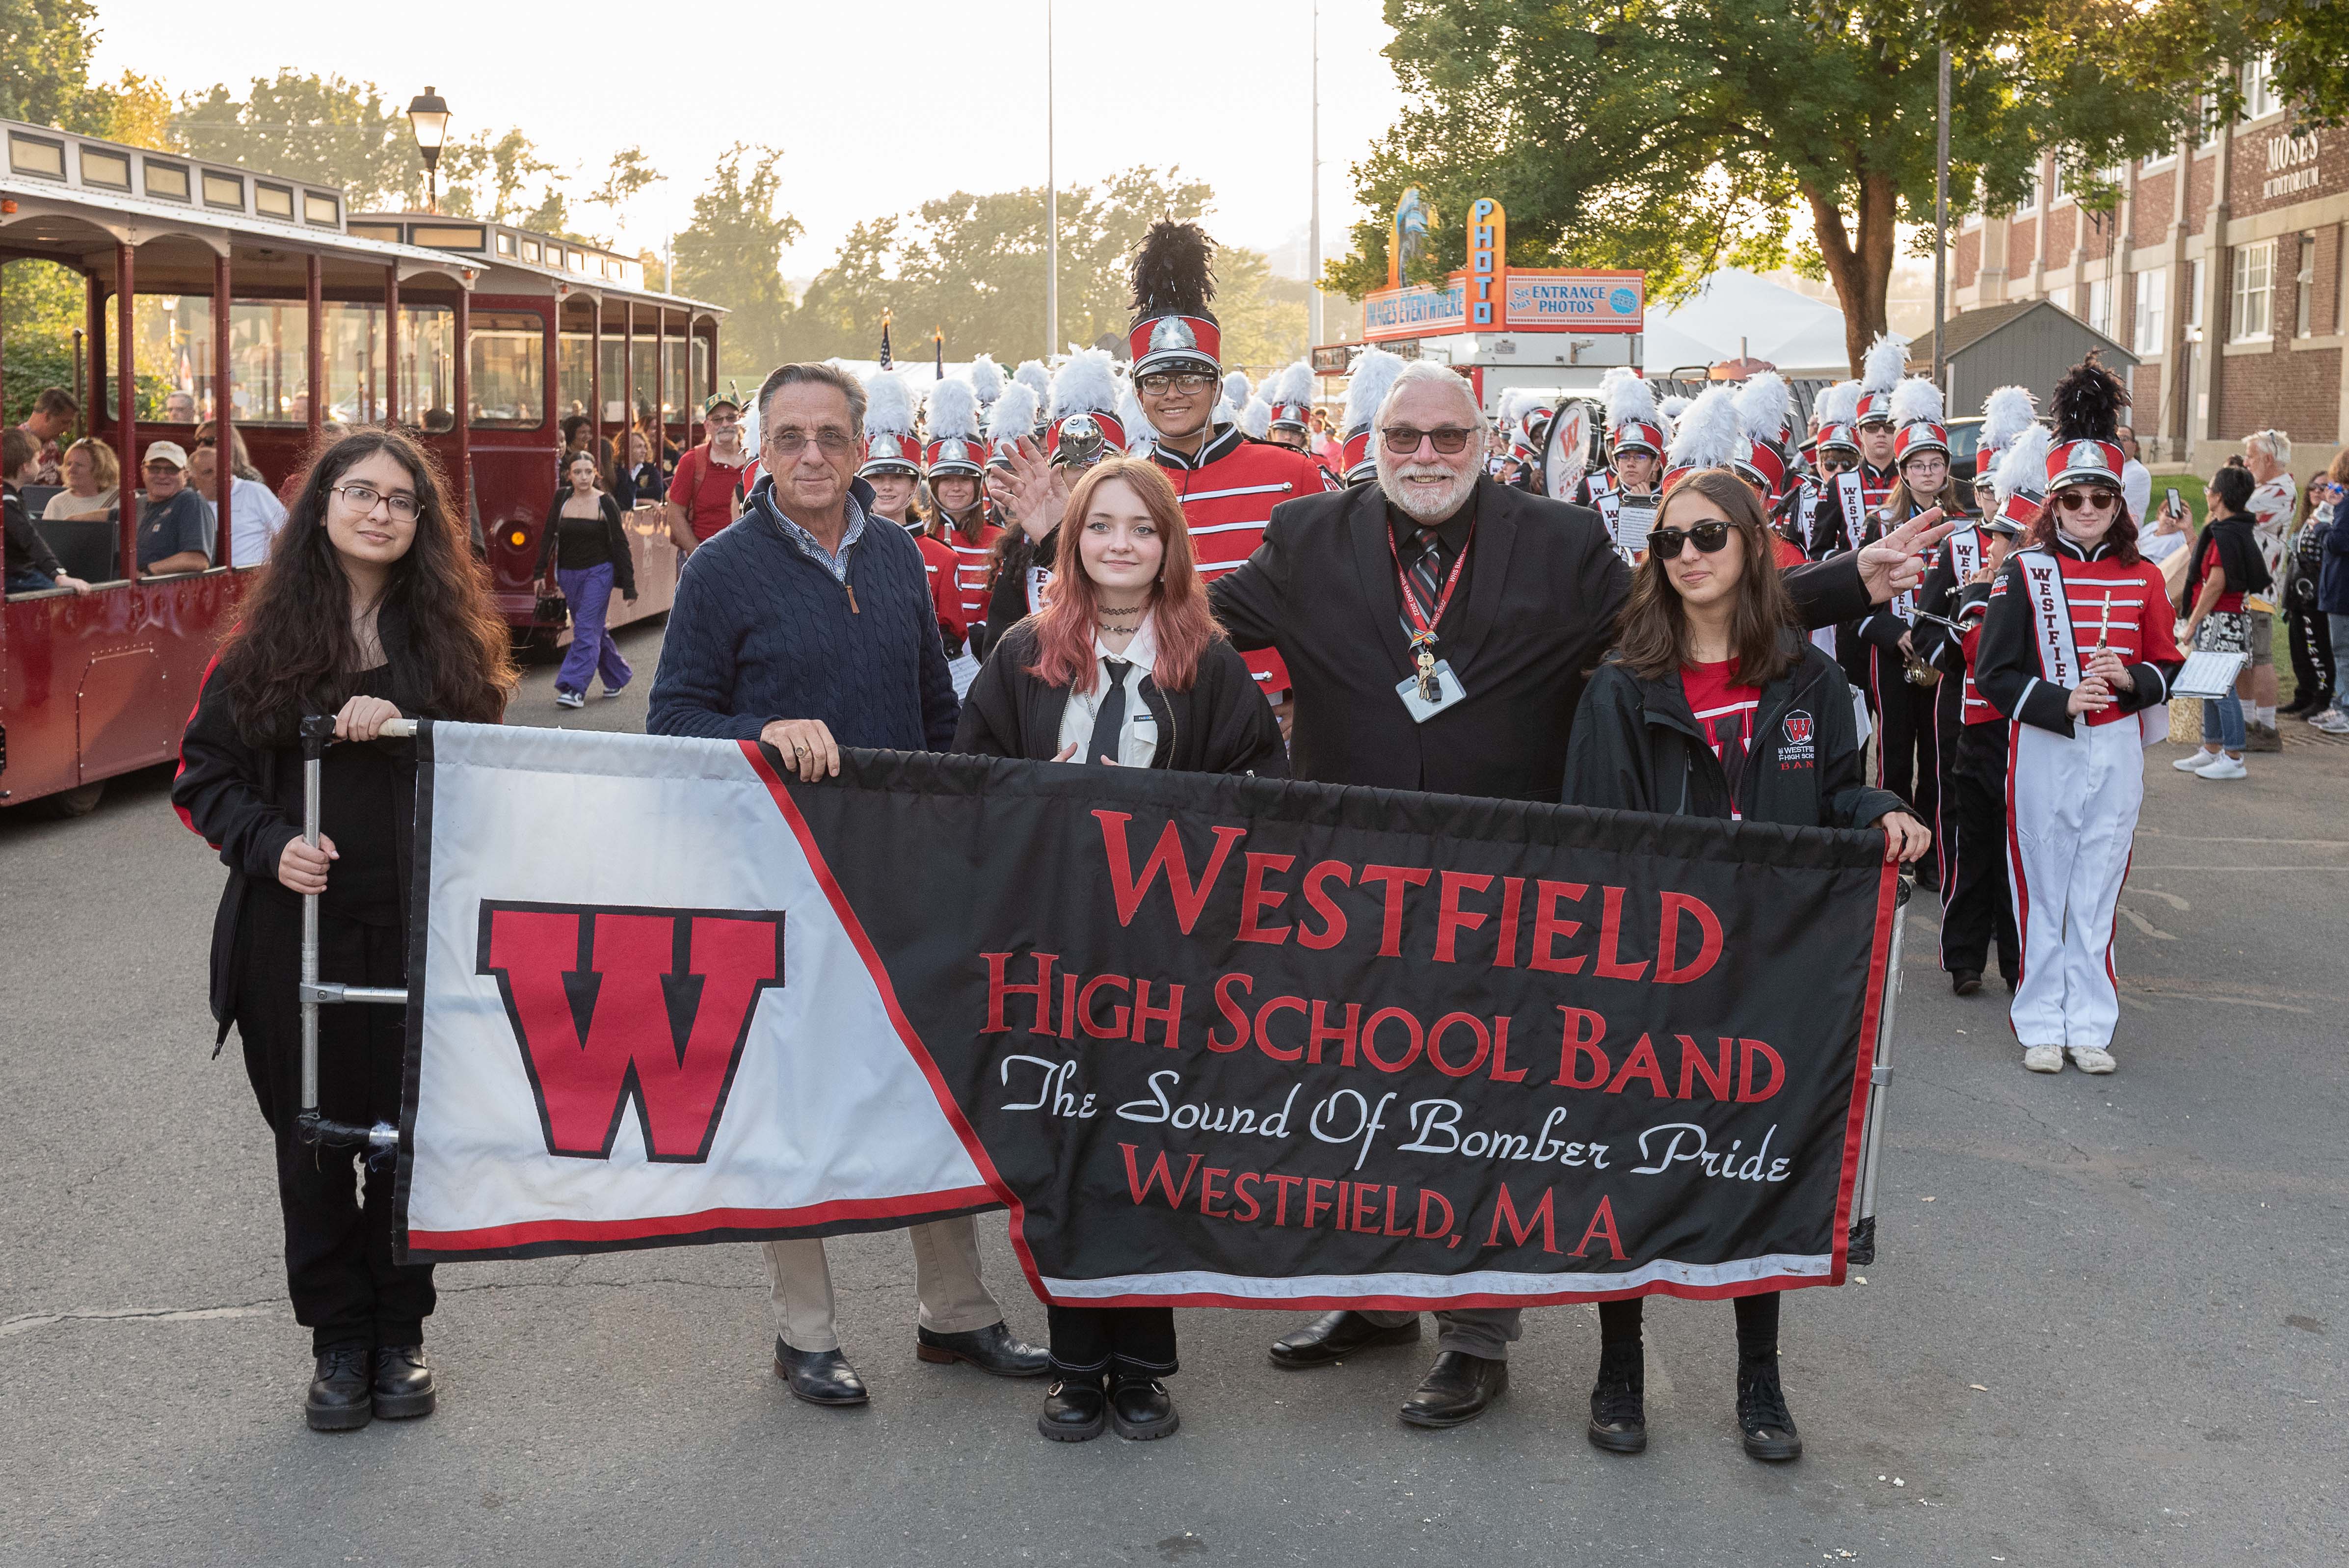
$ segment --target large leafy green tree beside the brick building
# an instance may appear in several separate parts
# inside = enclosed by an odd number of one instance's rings
[[[1355,249],[1327,282],[1386,284],[1407,185],[1452,225],[1508,209],[1515,265],[1644,268],[1661,298],[1719,265],[1788,261],[1795,216],[1844,305],[1858,371],[1884,331],[1893,230],[1933,216],[1936,28],[1952,49],[1952,216],[2025,197],[2039,153],[2100,169],[2159,153],[2241,52],[2203,0],[1388,0],[1414,103],[1355,167]],[[1978,195],[1976,195],[1978,192]]]

